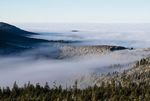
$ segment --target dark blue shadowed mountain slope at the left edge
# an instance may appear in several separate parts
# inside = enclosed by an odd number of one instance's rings
[[[0,22],[0,53],[8,54],[13,52],[31,49],[33,45],[48,42],[47,40],[30,38],[36,33],[24,31],[13,25]]]

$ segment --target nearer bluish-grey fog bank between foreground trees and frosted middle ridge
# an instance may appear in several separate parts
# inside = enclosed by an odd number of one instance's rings
[[[149,51],[121,50],[66,59],[35,59],[34,51],[29,53],[25,53],[26,56],[0,57],[0,86],[12,86],[14,81],[22,86],[30,81],[42,85],[49,82],[51,86],[56,82],[65,87],[72,85],[75,80],[79,80],[82,87],[92,85],[91,74],[100,75],[128,69],[135,61],[147,56]]]

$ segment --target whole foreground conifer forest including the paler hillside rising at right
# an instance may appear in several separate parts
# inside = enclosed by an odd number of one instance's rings
[[[107,78],[107,79],[106,79]],[[123,73],[109,74],[97,85],[81,89],[78,82],[63,88],[27,83],[0,88],[0,101],[149,101],[150,58],[142,59]],[[99,85],[98,85],[99,84]]]

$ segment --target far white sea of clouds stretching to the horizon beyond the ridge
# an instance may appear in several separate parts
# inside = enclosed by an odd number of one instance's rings
[[[121,45],[126,47],[150,47],[150,24],[19,24],[19,27],[41,33],[33,36],[48,40],[83,41],[83,45]],[[78,30],[78,32],[71,32]]]

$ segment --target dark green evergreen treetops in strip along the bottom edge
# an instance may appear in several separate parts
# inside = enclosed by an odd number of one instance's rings
[[[129,83],[122,86],[114,80],[110,83],[102,83],[101,86],[93,86],[78,89],[77,83],[73,87],[62,89],[28,83],[24,87],[18,87],[16,83],[12,89],[9,87],[0,89],[0,101],[149,101],[150,85],[141,82]]]

